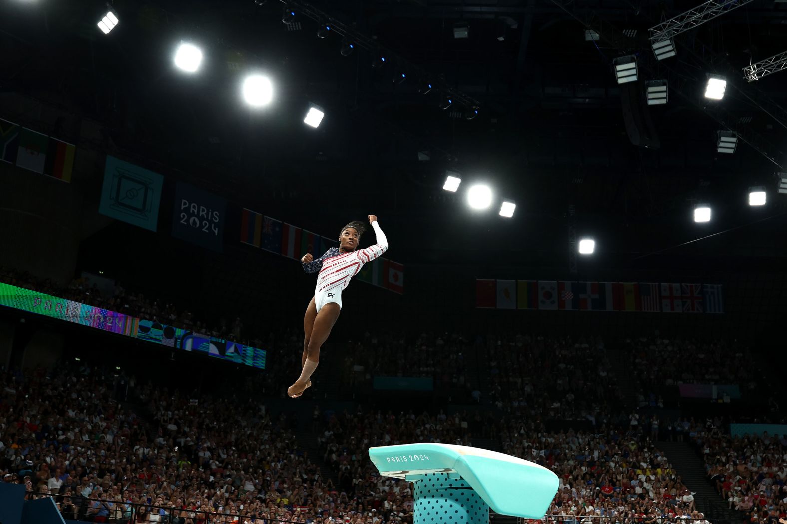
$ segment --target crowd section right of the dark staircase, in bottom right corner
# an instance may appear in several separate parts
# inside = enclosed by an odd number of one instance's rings
[[[715,488],[749,522],[787,518],[787,434],[731,437],[717,420],[695,423],[690,437]]]

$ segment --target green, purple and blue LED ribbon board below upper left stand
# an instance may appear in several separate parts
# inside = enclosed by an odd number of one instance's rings
[[[264,349],[167,326],[153,320],[138,319],[135,316],[68,301],[65,298],[52,297],[46,293],[25,290],[3,282],[0,282],[0,306],[65,320],[109,333],[122,334],[142,341],[155,342],[168,348],[202,352],[232,363],[265,369],[267,352]]]

